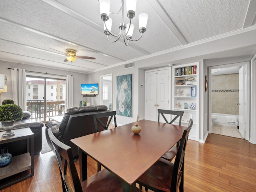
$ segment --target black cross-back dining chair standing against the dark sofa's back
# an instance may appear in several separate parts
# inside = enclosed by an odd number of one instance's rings
[[[108,117],[108,121],[106,124],[104,124],[101,120],[101,118],[104,118],[104,117]],[[100,125],[105,129],[107,130],[108,129],[108,126],[110,125],[110,123],[112,122],[112,118],[114,117],[114,126],[117,127],[116,125],[116,111],[110,111],[110,112],[102,112],[102,113],[95,113],[95,114],[92,114],[92,118],[94,120],[94,126],[95,126],[95,131],[98,132],[99,129],[98,129],[98,123],[100,123]],[[101,164],[98,163],[98,171],[101,170]]]

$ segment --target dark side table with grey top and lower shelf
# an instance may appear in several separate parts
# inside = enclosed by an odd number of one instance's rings
[[[12,131],[14,136],[4,138],[2,135],[5,131],[0,132],[0,148],[4,148],[11,142],[26,140],[27,152],[12,156],[10,164],[0,167],[0,189],[34,176],[34,134],[28,127]],[[10,150],[8,152],[12,154]]]

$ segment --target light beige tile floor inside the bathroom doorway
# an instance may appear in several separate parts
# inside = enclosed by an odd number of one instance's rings
[[[230,126],[222,126],[222,125],[216,125],[213,124],[212,126],[212,133],[219,134],[219,135],[226,135],[230,137],[236,137],[241,138],[242,136],[236,127],[230,127]]]

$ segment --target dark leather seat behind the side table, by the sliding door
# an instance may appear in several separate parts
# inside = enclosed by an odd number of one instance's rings
[[[42,122],[31,122],[29,120],[30,116],[30,112],[24,111],[22,120],[15,122],[12,129],[29,127],[31,131],[34,133],[34,155],[39,155],[40,151],[42,150],[42,127],[44,126],[44,124]],[[0,147],[2,148],[2,146]],[[8,152],[16,156],[26,152],[27,143],[26,140],[20,140],[8,143],[7,147]]]

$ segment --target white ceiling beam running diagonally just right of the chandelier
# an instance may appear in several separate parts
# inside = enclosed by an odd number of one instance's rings
[[[171,18],[168,16],[168,14],[164,11],[162,6],[159,4],[158,1],[154,0],[147,0],[150,6],[156,11],[156,13],[160,16],[160,18],[165,22],[165,24],[170,28],[170,30],[173,32],[173,34],[177,37],[177,39],[180,41],[182,45],[188,44],[184,36],[180,33],[178,28],[175,26],[175,24],[172,22]]]

